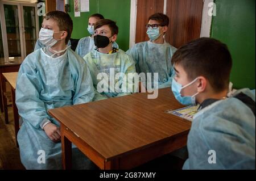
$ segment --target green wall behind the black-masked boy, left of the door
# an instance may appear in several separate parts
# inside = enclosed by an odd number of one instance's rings
[[[89,36],[87,31],[89,16],[94,13],[104,15],[106,19],[117,22],[119,33],[117,43],[122,50],[129,49],[130,36],[130,0],[90,0],[90,12],[81,12],[80,17],[74,15],[74,1],[69,1],[71,12],[69,15],[73,20],[73,39]]]

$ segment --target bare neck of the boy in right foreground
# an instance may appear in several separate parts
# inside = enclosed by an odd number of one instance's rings
[[[204,100],[207,99],[217,99],[217,100],[221,100],[221,99],[226,99],[226,95],[228,94],[228,90],[224,90],[221,92],[204,92],[204,93],[200,93],[197,97],[197,102],[199,104],[203,103]]]

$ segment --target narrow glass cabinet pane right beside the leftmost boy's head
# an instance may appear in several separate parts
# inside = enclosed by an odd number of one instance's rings
[[[36,43],[35,7],[23,6],[26,54],[34,51]]]

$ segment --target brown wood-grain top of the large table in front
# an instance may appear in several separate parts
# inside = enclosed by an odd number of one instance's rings
[[[49,110],[106,161],[188,134],[191,122],[165,113],[184,107],[170,88]]]

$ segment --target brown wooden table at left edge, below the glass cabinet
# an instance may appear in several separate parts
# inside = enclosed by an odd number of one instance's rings
[[[7,72],[14,72],[19,71],[20,64],[22,64],[23,58],[22,57],[14,57],[14,58],[0,58],[0,86],[1,86],[1,94],[0,94],[0,107],[1,112],[7,110],[6,105],[3,105],[3,103],[6,101],[5,96],[3,95],[3,77],[2,73]],[[6,112],[6,111],[5,111]],[[5,119],[6,123],[8,119]]]

